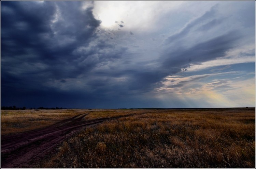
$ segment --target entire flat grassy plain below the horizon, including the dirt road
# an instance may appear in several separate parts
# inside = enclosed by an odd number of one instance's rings
[[[1,111],[2,168],[255,167],[255,108]]]

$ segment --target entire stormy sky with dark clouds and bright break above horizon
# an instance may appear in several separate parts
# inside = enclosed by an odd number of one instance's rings
[[[1,106],[254,107],[255,1],[1,1]]]

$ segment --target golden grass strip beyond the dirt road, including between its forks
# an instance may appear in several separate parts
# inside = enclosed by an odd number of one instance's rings
[[[129,109],[26,109],[1,110],[1,135],[16,134],[47,127],[75,115],[89,113],[83,120],[117,117],[140,113]]]

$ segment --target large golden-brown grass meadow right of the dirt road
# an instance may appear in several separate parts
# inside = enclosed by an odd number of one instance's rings
[[[37,167],[255,168],[255,108],[124,110],[136,111],[75,134]]]

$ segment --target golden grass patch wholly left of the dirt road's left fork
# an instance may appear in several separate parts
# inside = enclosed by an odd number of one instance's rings
[[[1,135],[43,128],[58,121],[82,114],[75,109],[62,110],[2,110]]]

